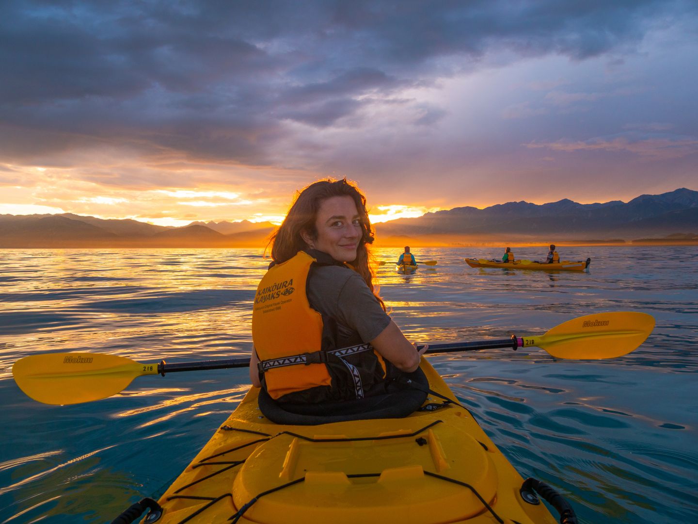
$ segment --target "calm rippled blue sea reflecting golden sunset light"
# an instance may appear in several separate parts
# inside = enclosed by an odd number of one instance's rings
[[[698,512],[698,248],[564,247],[588,272],[473,269],[496,249],[415,249],[385,265],[381,294],[417,342],[542,334],[575,316],[652,314],[657,327],[610,361],[540,349],[430,356],[525,476],[555,486],[581,522],[694,522]],[[543,248],[517,248],[541,259]],[[392,260],[398,250],[382,249]],[[0,522],[109,522],[158,494],[248,389],[248,370],[140,377],[112,398],[27,398],[22,356],[95,351],[141,362],[248,356],[251,300],[267,262],[252,249],[0,251]]]

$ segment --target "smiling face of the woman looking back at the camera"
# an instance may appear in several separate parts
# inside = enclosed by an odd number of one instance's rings
[[[356,250],[362,237],[361,217],[350,196],[332,196],[322,201],[315,216],[318,235],[301,233],[311,249],[318,249],[338,262],[356,259]]]

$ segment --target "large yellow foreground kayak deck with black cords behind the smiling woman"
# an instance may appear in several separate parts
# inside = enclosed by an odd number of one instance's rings
[[[421,369],[432,391],[401,419],[277,424],[251,388],[142,522],[557,523],[530,486],[562,497],[524,483],[424,358]]]

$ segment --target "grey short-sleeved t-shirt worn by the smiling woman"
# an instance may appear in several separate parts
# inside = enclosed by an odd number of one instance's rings
[[[339,265],[311,270],[308,300],[313,309],[355,330],[364,342],[378,337],[390,323],[361,275]]]

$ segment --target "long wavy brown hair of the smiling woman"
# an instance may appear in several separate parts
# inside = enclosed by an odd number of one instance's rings
[[[367,245],[373,243],[375,232],[371,228],[369,214],[366,211],[366,197],[356,184],[349,182],[346,178],[318,180],[318,182],[314,182],[296,193],[288,214],[286,214],[279,229],[272,233],[272,238],[269,240],[269,244],[272,246],[272,260],[279,264],[292,259],[302,249],[308,249],[301,232],[306,231],[312,238],[317,237],[318,230],[315,227],[315,219],[320,204],[333,196],[350,196],[356,204],[362,236],[357,247],[356,259],[350,264],[362,276],[385,310],[385,304],[378,296],[378,289],[373,286],[373,270],[369,263],[370,253]]]

